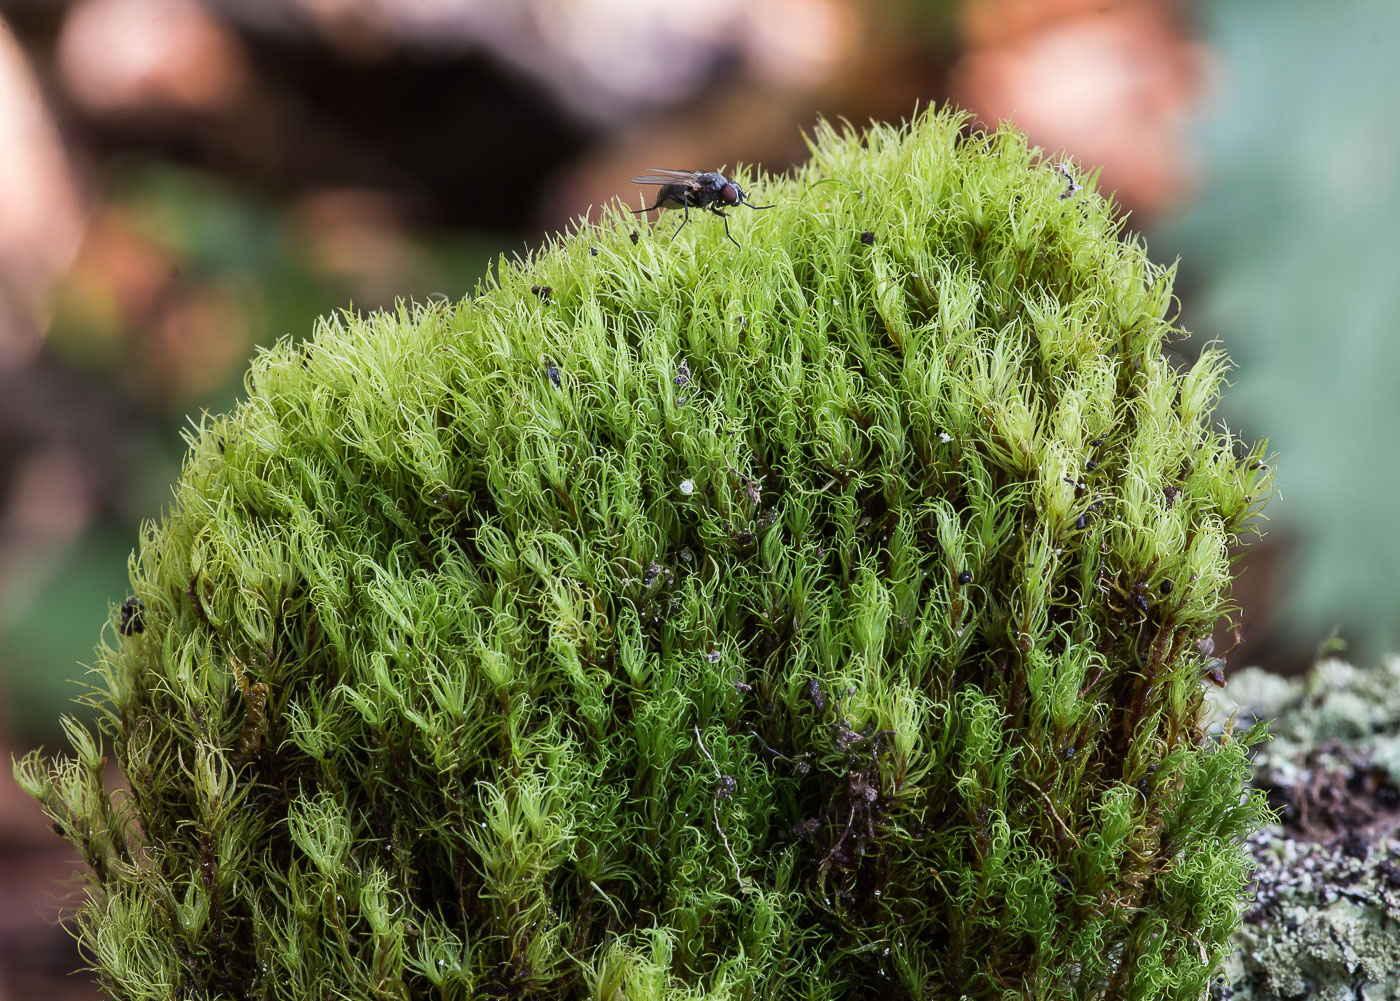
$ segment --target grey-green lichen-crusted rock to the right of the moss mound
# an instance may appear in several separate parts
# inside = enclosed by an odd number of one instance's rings
[[[1249,839],[1254,885],[1215,997],[1400,998],[1400,658],[1242,671],[1222,703],[1273,721],[1254,785],[1280,823]]]

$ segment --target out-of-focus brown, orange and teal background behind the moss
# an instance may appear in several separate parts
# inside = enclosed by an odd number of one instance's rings
[[[651,167],[953,102],[1102,167],[1278,452],[1232,665],[1396,645],[1390,0],[0,0],[0,757],[56,743],[181,431],[318,315],[472,290]],[[1193,347],[1194,346],[1194,347]],[[0,1001],[92,998],[0,769]],[[42,993],[42,994],[41,994]]]

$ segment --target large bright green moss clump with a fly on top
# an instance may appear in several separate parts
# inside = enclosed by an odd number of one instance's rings
[[[262,356],[99,651],[130,794],[76,725],[18,766],[111,994],[1198,997],[1270,473],[1086,188],[823,127],[742,249],[617,210]]]

